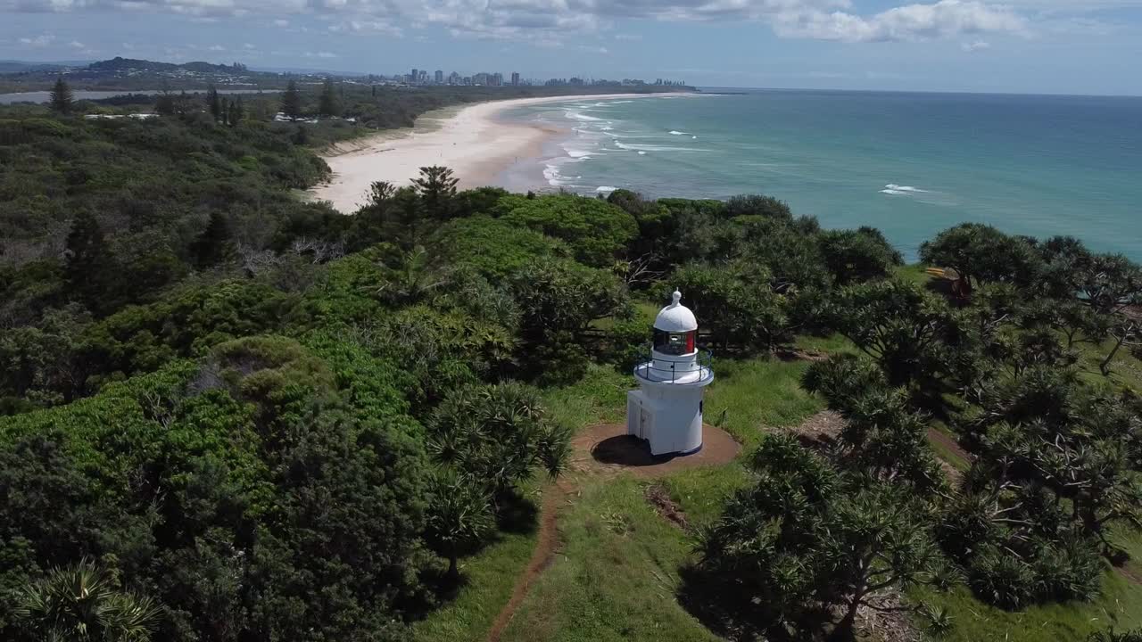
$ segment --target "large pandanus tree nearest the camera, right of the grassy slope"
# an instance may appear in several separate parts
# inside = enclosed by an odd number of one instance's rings
[[[753,482],[700,537],[700,570],[767,639],[823,633],[851,640],[862,609],[898,610],[885,593],[949,576],[931,536],[932,511],[904,489],[844,471],[788,435],[751,456]],[[729,599],[729,597],[727,597]]]

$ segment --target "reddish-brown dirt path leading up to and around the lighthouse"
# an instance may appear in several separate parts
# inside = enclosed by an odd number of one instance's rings
[[[558,514],[578,490],[579,480],[621,472],[643,478],[660,476],[683,468],[729,464],[741,450],[741,444],[729,433],[707,425],[702,428],[702,449],[698,452],[685,457],[651,457],[645,443],[628,436],[626,430],[621,424],[601,424],[588,427],[572,440],[570,470],[544,491],[536,549],[531,553],[528,568],[516,578],[512,596],[496,616],[486,642],[499,642],[536,579],[555,559],[560,547]],[[684,516],[682,519],[685,520]]]

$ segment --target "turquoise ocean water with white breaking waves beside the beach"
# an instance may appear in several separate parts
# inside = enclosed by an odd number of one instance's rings
[[[508,115],[570,130],[533,168],[550,187],[765,193],[827,227],[879,227],[908,258],[974,220],[1142,260],[1142,98],[758,90]]]

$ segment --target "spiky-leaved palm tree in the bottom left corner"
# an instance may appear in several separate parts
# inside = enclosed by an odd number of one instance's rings
[[[120,591],[112,573],[87,557],[29,586],[16,609],[22,627],[49,642],[144,642],[159,613],[150,597]]]

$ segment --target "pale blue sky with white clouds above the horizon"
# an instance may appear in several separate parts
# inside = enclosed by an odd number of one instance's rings
[[[1142,95],[1142,0],[0,0],[0,58]]]

